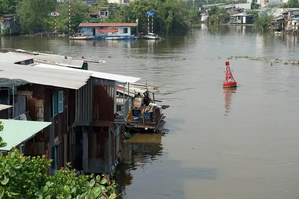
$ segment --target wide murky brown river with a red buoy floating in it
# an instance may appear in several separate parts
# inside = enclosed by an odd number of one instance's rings
[[[106,60],[90,70],[161,87],[156,98],[170,105],[164,131],[126,142],[123,199],[298,199],[299,66],[283,64],[299,59],[298,46],[298,37],[241,26],[202,26],[161,41],[0,37],[1,48]],[[230,56],[285,61],[230,59],[238,88],[224,90],[220,57]]]

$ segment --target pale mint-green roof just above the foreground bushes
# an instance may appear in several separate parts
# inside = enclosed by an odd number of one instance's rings
[[[0,136],[7,143],[1,150],[9,151],[11,147],[17,146],[33,137],[37,132],[49,126],[51,122],[24,121],[13,119],[1,119],[4,129]]]

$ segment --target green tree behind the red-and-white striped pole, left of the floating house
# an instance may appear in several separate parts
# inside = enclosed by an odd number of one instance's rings
[[[71,1],[71,30],[72,32],[77,30],[80,23],[86,23],[90,20],[89,8],[81,0]],[[68,0],[58,3],[56,10],[59,12],[59,16],[56,18],[56,23],[59,32],[68,32],[69,29],[69,4]],[[54,19],[51,19],[52,27]]]

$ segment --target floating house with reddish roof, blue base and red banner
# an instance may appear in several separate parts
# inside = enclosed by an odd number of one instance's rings
[[[86,36],[94,36],[95,39],[106,37],[125,37],[125,39],[136,39],[133,28],[137,23],[80,23],[79,32]]]

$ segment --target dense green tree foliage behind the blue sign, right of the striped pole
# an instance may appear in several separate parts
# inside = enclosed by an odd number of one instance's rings
[[[99,7],[111,7],[112,14],[101,22],[136,22],[139,20],[139,32],[147,32],[147,11],[155,11],[153,17],[154,32],[175,34],[187,31],[198,21],[199,11],[187,8],[183,0],[137,0],[129,5],[116,5],[103,1]],[[150,19],[151,20],[151,19]]]

